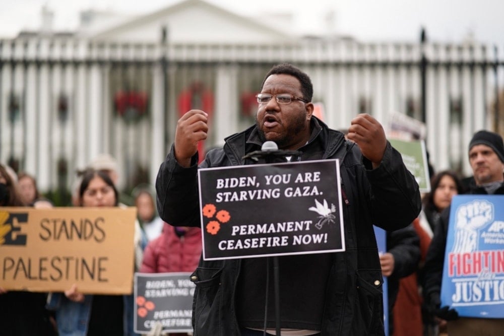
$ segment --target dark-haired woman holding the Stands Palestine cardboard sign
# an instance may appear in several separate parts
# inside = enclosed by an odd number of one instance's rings
[[[88,170],[79,188],[82,207],[116,207],[118,191],[103,171]],[[133,267],[133,265],[132,265]],[[133,270],[133,268],[132,268]],[[84,295],[76,284],[64,293],[53,294],[49,308],[56,311],[59,335],[131,335],[122,295]]]

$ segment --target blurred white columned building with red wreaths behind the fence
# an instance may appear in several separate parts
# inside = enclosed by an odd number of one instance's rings
[[[0,40],[0,162],[34,174],[42,191],[68,188],[100,153],[119,161],[122,189],[153,183],[183,112],[209,112],[204,146],[222,145],[254,122],[254,96],[281,62],[310,75],[331,127],[347,128],[361,112],[384,125],[395,113],[424,121],[436,170],[469,174],[472,133],[498,122],[491,102],[502,49],[475,41],[295,36],[202,0],[82,18],[75,32],[45,25]]]

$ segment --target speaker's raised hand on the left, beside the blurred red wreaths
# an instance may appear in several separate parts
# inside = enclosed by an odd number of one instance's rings
[[[208,114],[191,110],[182,115],[175,130],[175,159],[183,167],[191,165],[191,157],[198,151],[198,142],[207,139]]]

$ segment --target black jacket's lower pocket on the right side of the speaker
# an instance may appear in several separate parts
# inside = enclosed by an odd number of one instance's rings
[[[383,332],[382,285],[382,277],[379,274],[369,282],[357,272],[357,304],[360,308],[357,312],[360,312],[361,325],[366,335]]]

